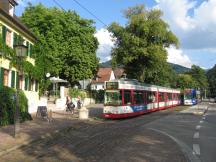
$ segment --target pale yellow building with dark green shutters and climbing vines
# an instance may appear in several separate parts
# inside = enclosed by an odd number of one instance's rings
[[[32,113],[37,110],[39,100],[38,81],[11,64],[10,51],[14,51],[16,45],[26,46],[25,61],[34,67],[32,49],[36,37],[14,14],[16,5],[15,0],[0,0],[0,87],[23,90],[28,98],[29,113]]]

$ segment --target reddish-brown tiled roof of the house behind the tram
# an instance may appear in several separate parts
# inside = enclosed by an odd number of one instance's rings
[[[112,68],[99,68],[97,72],[97,79],[93,80],[92,83],[103,83],[109,81],[112,73]]]

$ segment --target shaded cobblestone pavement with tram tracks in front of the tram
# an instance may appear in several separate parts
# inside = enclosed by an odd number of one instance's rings
[[[145,125],[177,113],[176,107],[136,118],[77,123],[1,157],[1,162],[187,161],[178,145]]]

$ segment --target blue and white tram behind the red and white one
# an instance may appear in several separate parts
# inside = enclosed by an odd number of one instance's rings
[[[195,89],[185,89],[182,93],[183,105],[196,105],[199,101],[200,91]]]

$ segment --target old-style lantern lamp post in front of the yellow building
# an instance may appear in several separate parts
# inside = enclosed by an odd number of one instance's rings
[[[17,58],[17,71],[19,70],[19,59],[21,57],[26,56],[28,47],[25,45],[15,45],[14,46],[16,58]],[[19,77],[19,76],[18,76]],[[19,83],[18,83],[19,84]],[[20,130],[20,107],[19,107],[19,85],[17,86],[16,91],[16,110],[14,113],[14,138],[18,136],[19,130]]]

